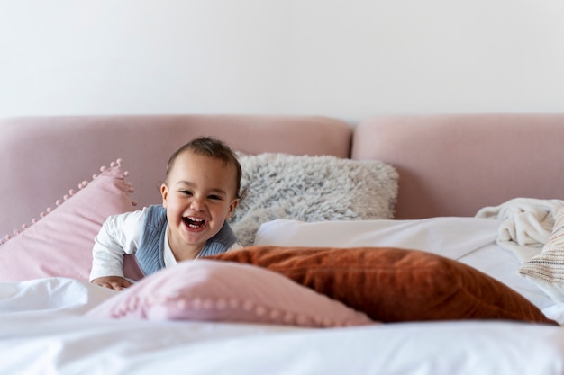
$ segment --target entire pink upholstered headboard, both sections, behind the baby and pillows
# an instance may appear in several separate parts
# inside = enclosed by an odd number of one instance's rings
[[[564,198],[562,114],[161,115],[0,120],[0,233],[9,233],[120,157],[140,205],[159,201],[171,150],[209,134],[249,154],[378,159],[400,174],[396,219],[473,216],[514,197]]]

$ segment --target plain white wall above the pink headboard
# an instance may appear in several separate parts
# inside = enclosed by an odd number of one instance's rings
[[[0,117],[564,112],[561,0],[0,0]]]

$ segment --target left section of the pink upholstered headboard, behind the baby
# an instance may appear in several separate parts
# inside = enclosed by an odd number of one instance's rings
[[[117,158],[139,207],[160,202],[168,156],[189,139],[222,138],[248,154],[350,155],[350,125],[315,116],[139,115],[0,120],[0,237],[31,224]]]

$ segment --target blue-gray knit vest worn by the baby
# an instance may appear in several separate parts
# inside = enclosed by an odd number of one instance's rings
[[[149,206],[143,226],[143,234],[139,248],[135,253],[137,263],[145,276],[165,268],[164,246],[167,236],[167,210],[159,205]],[[223,223],[217,234],[208,239],[204,248],[197,257],[222,254],[237,242],[237,237],[232,228]]]

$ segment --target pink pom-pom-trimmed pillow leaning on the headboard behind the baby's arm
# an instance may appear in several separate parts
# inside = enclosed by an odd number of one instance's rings
[[[78,185],[55,209],[41,213],[32,225],[6,236],[0,246],[0,281],[69,277],[87,281],[94,238],[108,216],[130,211],[131,183],[121,159],[102,167],[92,182]]]

